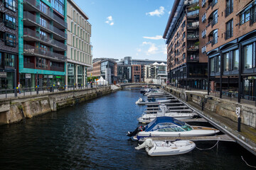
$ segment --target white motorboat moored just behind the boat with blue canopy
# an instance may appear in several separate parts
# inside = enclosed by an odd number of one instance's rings
[[[171,112],[165,106],[164,104],[161,104],[159,106],[159,111],[157,113],[151,113],[151,114],[143,114],[142,117],[140,117],[139,123],[151,123],[152,120],[154,120],[156,117],[159,116],[166,116],[166,117],[172,117],[176,118],[178,120],[185,120],[185,119],[191,119],[193,118],[193,113],[177,113],[177,112]]]

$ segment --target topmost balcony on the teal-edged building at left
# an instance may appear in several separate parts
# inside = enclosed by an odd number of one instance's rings
[[[53,11],[51,11],[48,8],[41,8],[40,4],[38,3],[38,1],[35,1],[35,0],[24,0],[24,3],[29,4],[30,6],[33,6],[33,8],[36,8],[37,11],[40,11],[41,13],[43,13],[48,18],[53,19],[62,28],[68,28],[68,23],[66,23],[63,20],[63,18],[60,18],[59,16],[57,16],[55,13],[53,13]]]

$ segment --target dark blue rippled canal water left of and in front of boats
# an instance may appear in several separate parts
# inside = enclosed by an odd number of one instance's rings
[[[250,169],[255,157],[233,142],[149,157],[126,136],[145,107],[139,89],[117,91],[55,113],[0,126],[0,169]],[[209,148],[215,142],[196,142]]]

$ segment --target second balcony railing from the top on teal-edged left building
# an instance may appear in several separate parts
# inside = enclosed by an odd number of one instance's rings
[[[62,31],[58,28],[55,28],[55,26],[50,25],[50,23],[40,23],[40,19],[28,11],[23,12],[23,18],[29,19],[29,20],[39,24],[40,26],[42,26],[48,30],[51,30],[53,33],[60,35],[63,38],[67,38],[67,34],[64,31]]]

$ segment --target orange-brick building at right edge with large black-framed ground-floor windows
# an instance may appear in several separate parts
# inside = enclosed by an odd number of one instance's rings
[[[203,1],[206,11],[206,52],[209,90],[256,96],[256,1]]]

